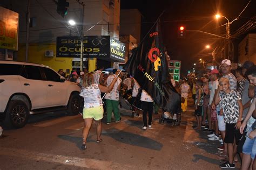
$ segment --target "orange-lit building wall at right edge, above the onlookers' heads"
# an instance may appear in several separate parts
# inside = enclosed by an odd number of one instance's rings
[[[238,45],[238,61],[246,60],[256,63],[256,34],[248,34]]]

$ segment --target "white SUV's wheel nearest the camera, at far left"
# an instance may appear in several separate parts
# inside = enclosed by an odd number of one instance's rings
[[[6,111],[5,124],[10,128],[22,128],[28,122],[28,106],[20,100],[11,100]]]

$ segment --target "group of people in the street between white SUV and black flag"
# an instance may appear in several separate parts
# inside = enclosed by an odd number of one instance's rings
[[[118,123],[122,120],[119,111],[119,96],[125,97],[130,101],[133,117],[140,117],[138,107],[143,110],[143,130],[152,128],[152,97],[145,90],[142,90],[138,82],[129,74],[123,75],[119,69],[113,69],[112,73],[104,74],[103,70],[104,67],[99,67],[94,72],[83,70],[78,74],[74,69],[69,77],[65,76],[63,69],[58,71],[67,80],[76,82],[81,87],[80,96],[82,96],[84,102],[83,109],[80,111],[84,119],[83,149],[86,149],[86,139],[93,122],[96,125],[96,141],[98,143],[102,141],[101,131],[104,112],[106,113],[107,125],[111,124],[112,113],[113,122]],[[138,102],[139,106],[132,107],[134,102]],[[104,104],[105,108],[103,107]]]

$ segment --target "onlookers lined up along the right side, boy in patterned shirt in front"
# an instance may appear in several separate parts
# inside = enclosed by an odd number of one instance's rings
[[[230,60],[193,83],[196,89],[196,130],[204,128],[208,140],[220,141],[217,149],[221,168],[256,169],[256,66],[245,61],[232,74]],[[207,121],[206,121],[207,120]]]

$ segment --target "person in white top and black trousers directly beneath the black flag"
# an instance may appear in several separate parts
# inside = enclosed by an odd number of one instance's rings
[[[152,115],[153,115],[153,98],[145,91],[142,90],[142,96],[140,97],[142,101],[143,110],[143,130],[147,129],[147,112],[149,112],[149,128],[152,128]]]

